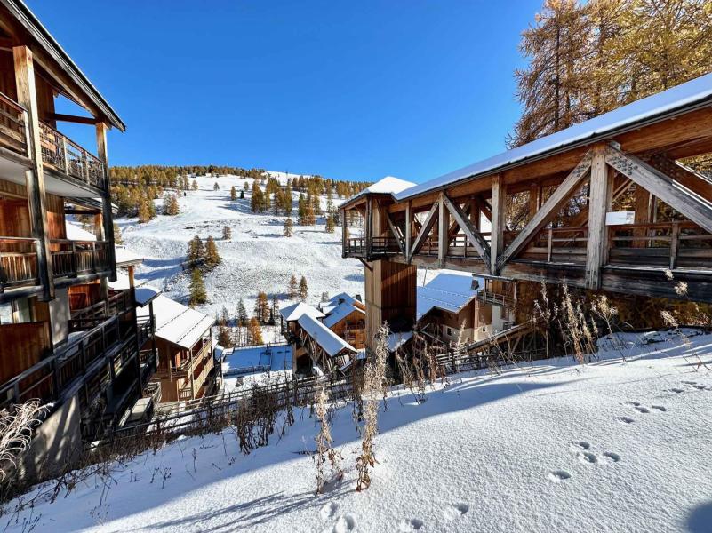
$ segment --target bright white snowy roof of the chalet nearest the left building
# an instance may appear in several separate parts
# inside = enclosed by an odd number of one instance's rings
[[[139,316],[148,316],[148,307],[136,309]],[[182,348],[196,344],[215,323],[215,319],[200,311],[184,306],[164,295],[153,301],[156,317],[156,337],[163,338]]]

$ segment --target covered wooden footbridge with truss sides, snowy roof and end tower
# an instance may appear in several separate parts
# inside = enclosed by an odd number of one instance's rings
[[[710,152],[712,74],[420,185],[365,189],[340,210],[364,219],[363,236],[343,227],[342,255],[364,262],[366,344],[414,322],[417,266],[712,302],[712,180],[685,164]]]

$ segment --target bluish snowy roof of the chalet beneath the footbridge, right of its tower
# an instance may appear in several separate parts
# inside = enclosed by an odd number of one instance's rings
[[[472,275],[459,272],[441,272],[424,287],[417,288],[416,314],[418,318],[437,307],[457,313],[477,296],[472,288]]]

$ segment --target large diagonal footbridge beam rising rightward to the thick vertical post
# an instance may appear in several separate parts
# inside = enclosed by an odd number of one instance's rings
[[[516,256],[519,251],[522,251],[524,246],[532,240],[534,235],[536,235],[542,227],[546,226],[548,221],[552,219],[556,212],[561,209],[561,207],[566,203],[571,195],[580,186],[581,182],[588,175],[588,171],[591,168],[591,154],[588,152],[584,155],[583,159],[577,164],[571,173],[564,179],[562,184],[556,188],[554,194],[548,197],[548,200],[541,206],[541,209],[536,212],[532,219],[524,226],[519,235],[516,235],[515,240],[509,244],[507,250],[501,253],[499,259],[497,259],[497,267],[493,270],[492,274],[499,272],[501,267]],[[492,204],[492,216],[494,216],[494,205]],[[492,236],[494,236],[494,231],[492,228]]]

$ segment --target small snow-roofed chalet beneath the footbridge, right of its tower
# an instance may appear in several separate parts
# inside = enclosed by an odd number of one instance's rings
[[[420,330],[445,343],[474,342],[508,326],[512,318],[506,306],[483,298],[484,279],[471,274],[444,271],[417,288]],[[484,303],[487,302],[487,303]]]

